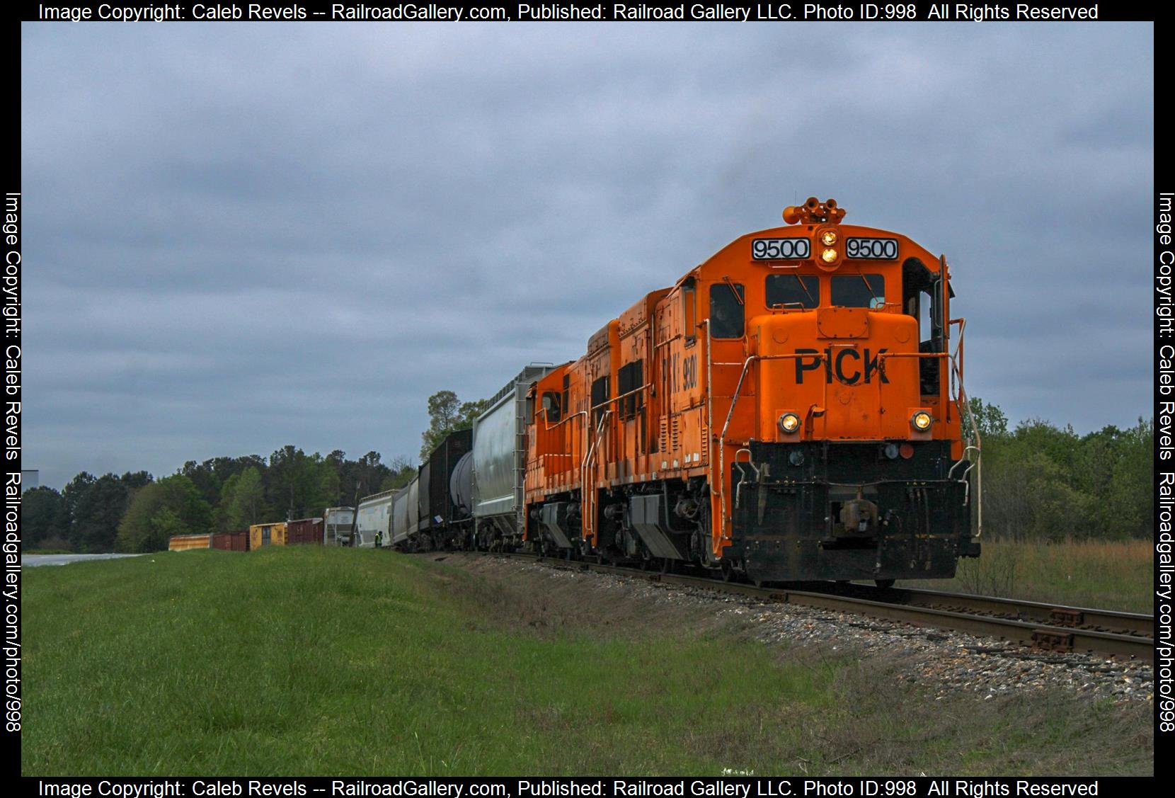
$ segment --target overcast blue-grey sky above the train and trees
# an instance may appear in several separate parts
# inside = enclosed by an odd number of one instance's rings
[[[1152,24],[26,24],[24,467],[375,449],[808,195],[952,263],[967,388],[1149,417]]]

